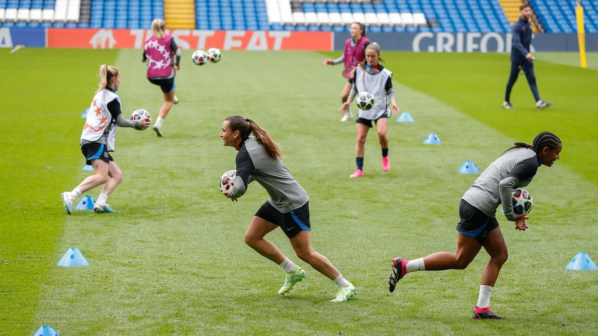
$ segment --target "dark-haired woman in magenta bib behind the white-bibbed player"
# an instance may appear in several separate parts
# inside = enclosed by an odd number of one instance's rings
[[[344,42],[343,54],[335,60],[325,59],[322,62],[324,65],[337,65],[344,62],[343,77],[350,79],[353,77],[356,66],[364,62],[365,59],[365,47],[370,44],[370,40],[365,37],[365,25],[359,22],[353,22],[351,24],[351,38],[348,38]],[[343,90],[340,93],[340,100],[342,103],[347,101],[349,97],[349,91],[351,90],[351,83],[345,83]],[[353,118],[351,109],[349,112],[343,115],[340,121],[347,121]]]

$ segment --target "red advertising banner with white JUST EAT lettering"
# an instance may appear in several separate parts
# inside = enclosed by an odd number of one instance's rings
[[[288,30],[166,30],[184,50],[332,50],[332,32]],[[48,48],[141,49],[151,37],[145,29],[48,28]]]

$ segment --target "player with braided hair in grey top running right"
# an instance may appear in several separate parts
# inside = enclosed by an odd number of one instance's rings
[[[496,159],[481,173],[463,195],[459,205],[461,221],[457,224],[457,248],[454,253],[436,252],[425,258],[407,261],[392,259],[392,271],[388,289],[394,291],[396,283],[413,271],[463,270],[480,252],[482,246],[490,260],[482,273],[480,295],[474,308],[474,319],[502,319],[490,310],[490,294],[502,265],[507,261],[507,244],[496,221],[496,207],[502,203],[505,216],[515,222],[515,229],[527,228],[527,215],[515,216],[512,209],[513,188],[528,185],[541,164],[551,167],[559,160],[563,145],[550,132],[542,132],[533,139],[532,145],[517,142],[507,149],[507,154]]]

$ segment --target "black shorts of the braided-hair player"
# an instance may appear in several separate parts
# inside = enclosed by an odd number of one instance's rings
[[[461,221],[457,224],[457,231],[465,236],[474,237],[480,245],[484,245],[484,240],[490,231],[498,228],[496,217],[486,216],[480,209],[465,200],[459,203],[459,216]]]

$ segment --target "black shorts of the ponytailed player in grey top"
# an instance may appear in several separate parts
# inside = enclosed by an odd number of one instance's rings
[[[309,224],[309,201],[287,213],[276,210],[269,201],[266,201],[255,215],[278,225],[289,238],[297,236],[303,230],[312,231]]]

